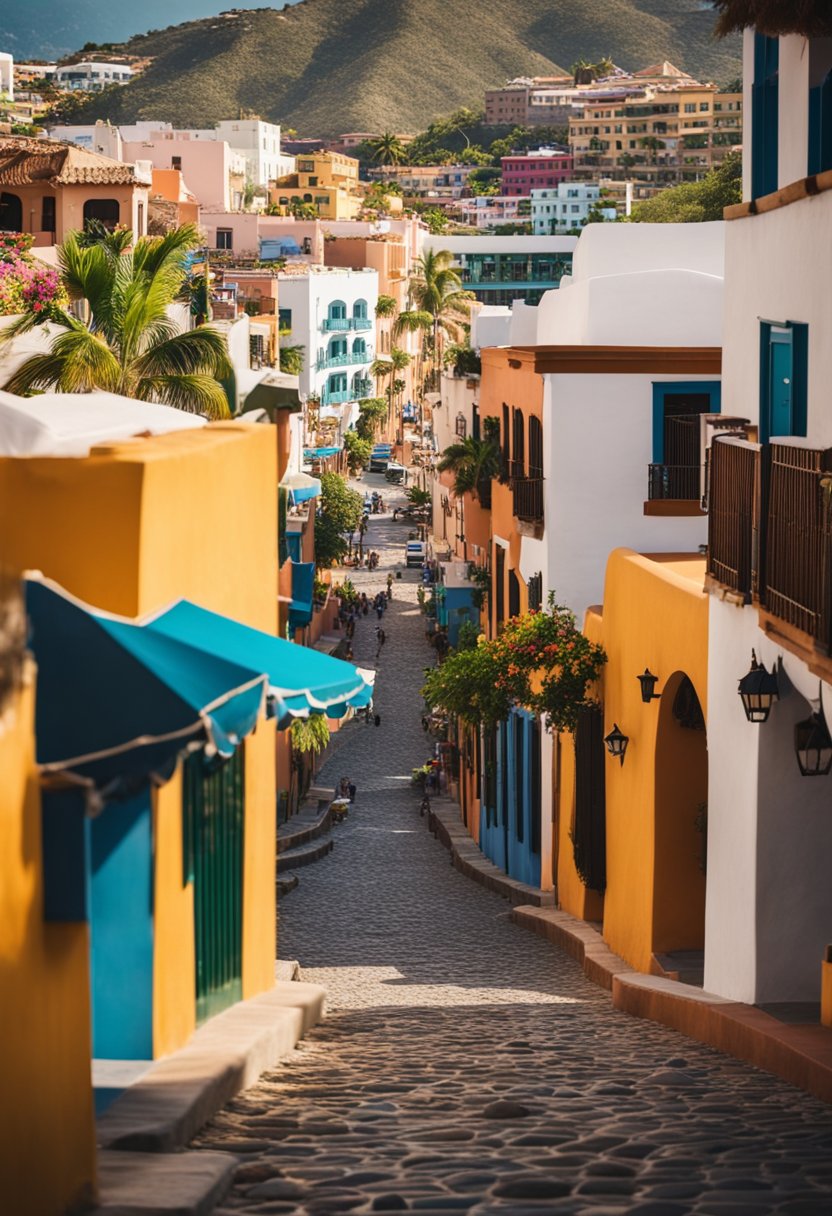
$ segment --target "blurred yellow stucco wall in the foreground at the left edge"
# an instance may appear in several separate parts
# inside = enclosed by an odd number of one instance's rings
[[[4,1211],[60,1216],[95,1180],[89,944],[43,918],[28,675],[0,719],[0,1178]]]

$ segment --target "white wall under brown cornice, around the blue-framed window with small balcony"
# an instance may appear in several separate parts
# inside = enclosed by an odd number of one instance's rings
[[[607,557],[695,552],[704,517],[645,516],[652,461],[653,381],[692,376],[545,376],[544,477],[547,587],[583,620],[603,599]]]

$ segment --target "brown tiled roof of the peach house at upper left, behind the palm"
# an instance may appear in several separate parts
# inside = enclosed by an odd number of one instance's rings
[[[131,164],[88,152],[75,143],[35,140],[26,136],[0,137],[0,185],[33,186],[133,186]]]

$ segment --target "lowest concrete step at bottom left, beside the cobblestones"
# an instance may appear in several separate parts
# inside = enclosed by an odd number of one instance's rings
[[[208,1216],[238,1162],[230,1153],[99,1153],[90,1216]]]

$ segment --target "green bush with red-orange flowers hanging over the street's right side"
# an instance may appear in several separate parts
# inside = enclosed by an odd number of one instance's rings
[[[549,730],[570,731],[592,704],[606,662],[603,648],[584,637],[574,614],[550,595],[546,612],[513,617],[499,637],[455,651],[429,670],[422,694],[431,709],[477,726],[493,726],[522,705],[545,716]]]

